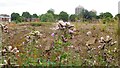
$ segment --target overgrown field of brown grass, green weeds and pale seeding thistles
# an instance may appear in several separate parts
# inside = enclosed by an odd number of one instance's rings
[[[2,33],[3,63],[20,66],[118,66],[117,23],[7,24]]]

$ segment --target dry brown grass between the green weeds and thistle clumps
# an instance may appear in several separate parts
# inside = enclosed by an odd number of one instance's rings
[[[32,24],[32,25],[31,25]],[[68,47],[62,47],[63,52],[65,51],[68,53],[69,56],[67,56],[68,61],[62,61],[63,65],[81,65],[84,61],[84,59],[88,58],[87,53],[87,46],[86,42],[90,38],[96,38],[97,42],[91,45],[91,48],[96,48],[92,53],[93,55],[98,54],[99,49],[97,48],[99,43],[98,40],[100,37],[106,37],[109,35],[113,38],[113,40],[117,40],[115,31],[116,27],[112,25],[106,25],[106,24],[80,24],[80,23],[73,23],[75,25],[75,28],[78,32],[74,35],[73,39],[69,39],[69,42],[71,42],[71,45],[73,48]],[[30,33],[31,31],[37,30],[40,31],[43,35],[38,40],[38,43],[36,45],[41,45],[40,48],[37,49],[36,53],[34,52],[33,55],[27,55],[26,57],[31,56],[35,59],[42,58],[45,60],[50,60],[51,62],[57,62],[56,57],[63,54],[63,52],[55,52],[54,50],[51,50],[50,54],[45,53],[45,48],[48,46],[52,46],[53,41],[55,40],[53,37],[51,37],[51,33],[57,32],[53,31],[50,28],[52,28],[54,25],[52,23],[30,23],[30,24],[8,24],[9,27],[9,34],[3,34],[3,46],[11,45],[13,47],[17,47],[20,52],[22,53],[24,51],[24,47],[22,45],[22,42],[25,41],[25,36]],[[88,31],[92,32],[91,36],[87,36],[86,33]],[[10,36],[10,38],[9,38]],[[36,46],[33,45],[33,46]],[[113,46],[117,47],[117,45]],[[111,48],[113,48],[111,47]],[[22,65],[25,63],[27,59],[23,59],[24,57],[19,57],[17,64]],[[117,58],[115,58],[117,61]],[[97,61],[99,62],[99,61]],[[117,62],[113,61],[114,63],[111,63],[113,65],[116,65]],[[43,64],[46,65],[46,64]],[[88,64],[89,65],[89,64]],[[102,65],[96,63],[95,65]]]

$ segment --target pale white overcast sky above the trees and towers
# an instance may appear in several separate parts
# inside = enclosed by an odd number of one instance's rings
[[[113,15],[118,13],[118,1],[120,0],[0,0],[0,14],[11,14],[17,12],[22,14],[29,11],[31,14],[43,14],[50,8],[56,14],[66,11],[74,14],[75,8],[79,5],[88,9],[94,9],[97,14],[101,12],[111,12]]]

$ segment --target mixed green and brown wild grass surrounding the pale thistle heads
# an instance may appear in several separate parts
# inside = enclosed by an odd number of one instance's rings
[[[27,25],[25,25],[27,24]],[[53,27],[53,23],[51,22],[40,22],[40,23],[23,23],[22,26],[17,25],[16,27],[11,27],[10,34],[13,34],[13,38],[9,38],[9,34],[4,34],[4,46],[17,47],[19,49],[19,53],[15,55],[8,55],[7,57],[11,57],[11,63],[15,62],[21,66],[116,66],[117,65],[117,52],[112,52],[114,48],[117,46],[108,46],[107,51],[101,50],[98,46],[100,37],[106,37],[110,35],[111,31],[115,31],[114,29],[110,29],[107,33],[107,29],[109,27],[113,27],[111,25],[106,24],[84,24],[84,23],[72,23],[75,28],[78,30],[77,35],[74,35],[73,39],[70,39],[70,35],[65,34],[65,30],[51,30],[50,27]],[[26,26],[26,27],[24,27]],[[34,27],[33,27],[34,26]],[[49,26],[49,27],[48,27]],[[115,25],[116,26],[116,25]],[[12,30],[11,30],[12,29]],[[30,38],[30,42],[25,42],[26,36],[31,32],[39,31],[42,36],[38,38],[38,36],[32,36]],[[93,36],[87,36],[86,32],[93,32]],[[51,34],[56,32],[57,34],[52,37]],[[97,34],[97,37],[96,37]],[[68,39],[67,42],[63,42],[61,35],[64,35],[65,38]],[[111,37],[115,35],[113,32]],[[93,45],[87,47],[85,44],[91,38],[95,37],[98,41]],[[12,40],[13,42],[10,42]],[[116,38],[113,37],[113,41]],[[22,42],[25,42],[24,45]],[[108,44],[106,44],[107,46]],[[52,48],[51,48],[52,47]],[[95,49],[95,50],[94,50]],[[117,51],[117,50],[116,50]],[[113,61],[108,62],[104,60],[103,53],[107,53],[107,59],[111,59],[113,56]],[[12,57],[14,56],[14,57]],[[14,60],[16,59],[16,60]],[[3,60],[4,61],[4,60]]]

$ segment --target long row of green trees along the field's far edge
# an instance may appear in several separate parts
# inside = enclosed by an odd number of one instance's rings
[[[106,22],[113,22],[120,17],[120,14],[113,15],[110,12],[100,13],[99,15],[96,14],[94,11],[88,11],[87,9],[83,9],[79,14],[71,14],[69,15],[65,11],[61,11],[59,14],[54,13],[54,9],[49,9],[45,14],[37,15],[37,14],[30,14],[29,12],[23,12],[20,16],[19,13],[12,13],[11,20],[18,23],[18,22],[31,22],[34,19],[37,19],[41,22],[56,22],[58,20],[63,21],[71,21],[71,22],[93,22],[102,20],[103,23]]]

